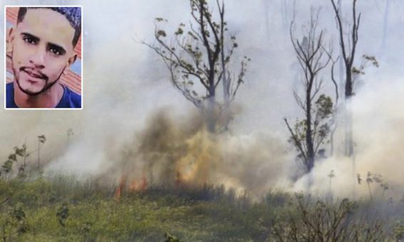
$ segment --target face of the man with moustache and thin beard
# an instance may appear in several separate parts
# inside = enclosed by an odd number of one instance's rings
[[[56,11],[27,10],[10,32],[14,77],[24,93],[43,93],[75,61],[74,32],[66,17]]]

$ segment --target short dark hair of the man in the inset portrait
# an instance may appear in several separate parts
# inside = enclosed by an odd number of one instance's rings
[[[69,21],[70,25],[74,28],[74,37],[73,37],[73,47],[76,46],[78,42],[78,38],[80,38],[81,33],[81,9],[78,7],[20,7],[19,15],[17,17],[17,23],[20,23],[24,20],[26,11],[28,9],[51,9],[53,11],[57,11],[59,14],[62,14]]]

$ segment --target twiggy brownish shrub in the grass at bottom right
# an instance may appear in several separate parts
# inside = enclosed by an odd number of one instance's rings
[[[296,210],[274,228],[280,241],[384,241],[383,222],[356,214],[358,204],[343,199],[335,204],[296,194]]]

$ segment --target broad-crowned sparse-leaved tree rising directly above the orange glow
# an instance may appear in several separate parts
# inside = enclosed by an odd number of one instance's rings
[[[162,58],[174,87],[206,117],[208,130],[216,132],[219,120],[222,127],[227,127],[229,104],[244,82],[249,58],[244,56],[237,72],[230,70],[229,63],[238,45],[236,37],[227,34],[224,2],[216,1],[217,12],[210,10],[206,0],[190,0],[190,7],[192,19],[188,26],[180,23],[170,38],[161,28],[161,23],[167,21],[157,18],[157,43],[143,43]],[[217,99],[221,81],[223,101]]]

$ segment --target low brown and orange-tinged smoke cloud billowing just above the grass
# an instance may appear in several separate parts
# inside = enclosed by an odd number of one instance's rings
[[[291,157],[280,137],[212,135],[202,120],[199,113],[178,120],[158,110],[133,142],[110,153],[115,164],[103,176],[139,181],[146,174],[148,184],[165,186],[224,184],[254,196],[286,185]]]

